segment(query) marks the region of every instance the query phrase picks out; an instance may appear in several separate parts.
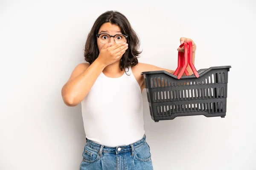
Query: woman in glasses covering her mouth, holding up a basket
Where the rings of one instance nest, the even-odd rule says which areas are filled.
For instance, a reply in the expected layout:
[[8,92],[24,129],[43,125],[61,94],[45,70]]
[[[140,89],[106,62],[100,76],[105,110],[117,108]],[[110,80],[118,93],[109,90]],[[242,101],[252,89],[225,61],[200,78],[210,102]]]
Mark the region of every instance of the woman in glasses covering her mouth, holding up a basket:
[[[180,43],[192,41],[180,38]],[[195,43],[193,58],[195,58]],[[80,170],[152,170],[145,139],[143,71],[165,70],[138,62],[140,41],[127,18],[117,11],[101,14],[88,34],[86,63],[74,68],[61,94],[64,103],[81,102],[87,143]],[[178,48],[183,51],[183,48]],[[190,74],[192,70],[188,68]]]

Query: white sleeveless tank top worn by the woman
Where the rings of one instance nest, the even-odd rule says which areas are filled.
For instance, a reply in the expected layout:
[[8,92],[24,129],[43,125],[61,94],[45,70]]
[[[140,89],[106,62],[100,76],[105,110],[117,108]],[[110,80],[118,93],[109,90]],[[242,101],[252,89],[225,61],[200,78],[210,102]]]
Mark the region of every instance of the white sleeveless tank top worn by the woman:
[[101,73],[81,102],[87,139],[105,146],[128,145],[143,138],[143,98],[131,67],[119,78]]

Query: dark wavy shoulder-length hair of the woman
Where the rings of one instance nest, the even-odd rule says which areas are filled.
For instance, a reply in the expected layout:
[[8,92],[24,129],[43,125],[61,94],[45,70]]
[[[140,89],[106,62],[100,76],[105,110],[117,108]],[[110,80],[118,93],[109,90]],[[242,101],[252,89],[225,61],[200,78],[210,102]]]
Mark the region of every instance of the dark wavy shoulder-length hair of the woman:
[[84,59],[85,61],[92,64],[95,59],[99,56],[99,48],[97,45],[97,37],[96,34],[99,32],[99,28],[104,23],[111,23],[113,25],[119,26],[122,34],[128,35],[127,43],[128,49],[123,54],[120,60],[120,69],[121,71],[124,68],[128,68],[128,66],[133,66],[138,64],[138,55],[141,54],[142,51],[138,51],[140,47],[140,40],[131,27],[128,19],[118,11],[106,11],[101,14],[93,24],[91,28],[87,40],[84,47]]

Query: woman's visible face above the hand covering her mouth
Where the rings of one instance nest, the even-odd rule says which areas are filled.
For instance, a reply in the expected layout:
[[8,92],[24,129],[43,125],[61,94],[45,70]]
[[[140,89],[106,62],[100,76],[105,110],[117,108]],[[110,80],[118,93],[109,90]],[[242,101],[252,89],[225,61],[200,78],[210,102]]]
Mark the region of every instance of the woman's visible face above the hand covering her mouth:
[[[122,34],[120,27],[113,25],[111,23],[102,24],[102,26],[99,28],[98,34],[101,34],[101,33],[107,33],[110,35]],[[116,42],[114,41],[114,37],[111,37],[109,42],[112,42],[112,45],[116,44]],[[102,42],[99,41],[99,38],[97,38],[97,45],[98,45],[99,51],[104,46],[104,44],[102,44]]]

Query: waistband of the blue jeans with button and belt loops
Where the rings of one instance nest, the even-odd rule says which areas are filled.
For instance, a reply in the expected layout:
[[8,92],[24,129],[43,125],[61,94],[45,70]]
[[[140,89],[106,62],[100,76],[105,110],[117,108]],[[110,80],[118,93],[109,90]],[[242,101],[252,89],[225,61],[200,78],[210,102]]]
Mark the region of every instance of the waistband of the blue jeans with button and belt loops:
[[140,147],[146,142],[146,136],[144,134],[143,138],[140,139],[137,142],[134,142],[132,144],[128,145],[121,145],[121,146],[116,146],[116,147],[108,147],[104,146],[102,144],[97,144],[89,139],[87,139],[86,145],[89,146],[90,148],[99,151],[100,153],[102,152],[114,152],[114,153],[122,153],[122,152],[127,152],[127,151],[134,151],[137,147]]

